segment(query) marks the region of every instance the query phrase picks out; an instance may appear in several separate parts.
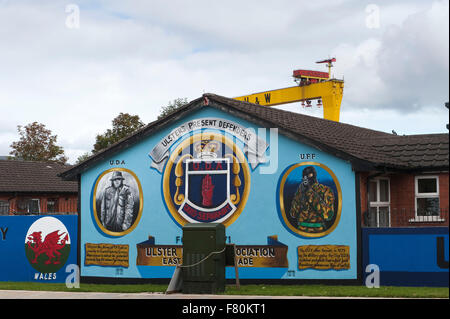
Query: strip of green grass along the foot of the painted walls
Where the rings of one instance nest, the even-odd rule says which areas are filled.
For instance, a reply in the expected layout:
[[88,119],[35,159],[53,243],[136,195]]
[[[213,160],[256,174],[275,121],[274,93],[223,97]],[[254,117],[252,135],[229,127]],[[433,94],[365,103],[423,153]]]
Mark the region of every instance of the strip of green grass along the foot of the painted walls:
[[[117,293],[164,293],[167,285],[99,285],[81,284],[80,288],[69,289],[65,284],[0,282],[2,290],[38,290],[70,292],[117,292]],[[449,298],[448,288],[436,287],[380,287],[328,286],[328,285],[241,285],[240,289],[228,285],[225,295],[259,296],[334,296],[334,297],[387,297],[387,298]]]

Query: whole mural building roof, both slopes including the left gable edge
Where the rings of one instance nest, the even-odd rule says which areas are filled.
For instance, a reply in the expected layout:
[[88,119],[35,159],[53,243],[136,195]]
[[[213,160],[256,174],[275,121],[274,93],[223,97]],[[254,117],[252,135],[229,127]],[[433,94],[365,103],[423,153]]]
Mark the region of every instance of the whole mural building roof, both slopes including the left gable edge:
[[77,174],[106,156],[137,143],[187,113],[205,106],[220,109],[260,127],[276,127],[281,134],[348,160],[359,170],[448,170],[448,134],[394,135],[206,93],[91,156],[62,173],[61,177],[75,179]]

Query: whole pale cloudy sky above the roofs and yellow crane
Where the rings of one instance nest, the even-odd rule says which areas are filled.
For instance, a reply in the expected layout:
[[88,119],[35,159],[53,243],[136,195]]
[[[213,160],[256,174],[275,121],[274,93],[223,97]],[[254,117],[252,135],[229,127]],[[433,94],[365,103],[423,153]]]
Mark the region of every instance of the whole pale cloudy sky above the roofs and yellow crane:
[[328,57],[341,122],[448,132],[448,39],[448,0],[0,0],[0,155],[37,121],[73,163],[120,112],[292,86]]

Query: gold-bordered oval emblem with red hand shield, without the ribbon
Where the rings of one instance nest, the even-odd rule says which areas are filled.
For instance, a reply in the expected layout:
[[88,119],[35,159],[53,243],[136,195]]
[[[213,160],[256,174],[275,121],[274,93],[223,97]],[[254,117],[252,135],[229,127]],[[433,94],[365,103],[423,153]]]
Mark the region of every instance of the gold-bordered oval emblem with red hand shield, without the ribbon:
[[172,153],[164,172],[164,199],[181,225],[229,225],[245,205],[249,182],[245,157],[231,140],[216,133],[197,134]]

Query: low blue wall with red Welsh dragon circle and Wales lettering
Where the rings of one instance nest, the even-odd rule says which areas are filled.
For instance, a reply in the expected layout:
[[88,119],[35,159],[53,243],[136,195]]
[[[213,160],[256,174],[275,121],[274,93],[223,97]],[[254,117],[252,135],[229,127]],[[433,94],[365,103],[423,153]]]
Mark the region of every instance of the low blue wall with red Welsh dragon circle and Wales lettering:
[[64,283],[77,264],[77,216],[0,216],[0,281]]

